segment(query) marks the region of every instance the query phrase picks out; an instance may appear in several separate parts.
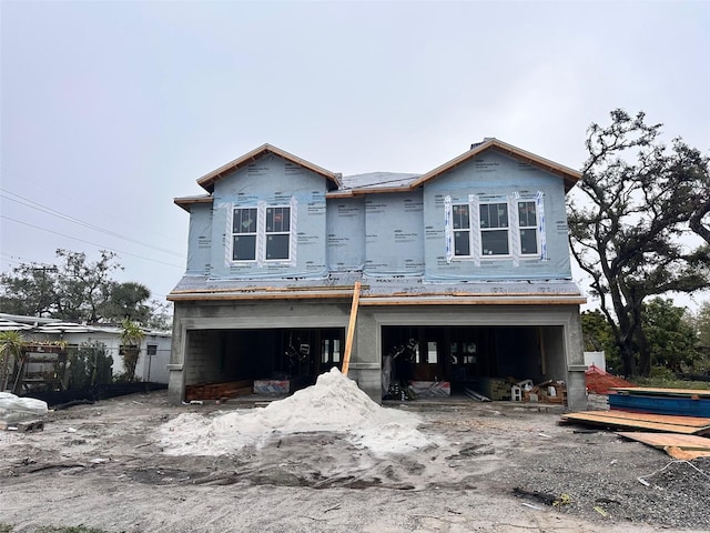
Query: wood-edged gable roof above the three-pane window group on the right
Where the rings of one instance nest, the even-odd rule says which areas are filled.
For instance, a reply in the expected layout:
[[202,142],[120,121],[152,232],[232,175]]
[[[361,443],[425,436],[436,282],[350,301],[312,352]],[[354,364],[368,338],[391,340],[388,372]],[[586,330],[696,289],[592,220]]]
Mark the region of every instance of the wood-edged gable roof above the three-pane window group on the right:
[[433,180],[438,175],[442,175],[443,173],[448,172],[449,170],[453,170],[456,167],[469,161],[470,159],[477,157],[486,150],[495,150],[503,153],[504,155],[508,155],[521,162],[537,167],[546,172],[550,172],[552,174],[561,177],[565,180],[565,192],[569,192],[575,183],[577,183],[581,179],[581,172],[577,170],[556,163],[554,161],[550,161],[549,159],[540,158],[539,155],[514,147],[513,144],[508,144],[507,142],[499,141],[498,139],[486,138],[484,139],[484,142],[473,144],[470,147],[470,150],[468,150],[467,152],[462,153],[457,158],[452,159],[450,161],[437,167],[434,170],[430,170],[426,174],[423,174],[418,179],[412,181],[412,183],[409,183],[409,188],[415,189],[426,183],[427,181]]

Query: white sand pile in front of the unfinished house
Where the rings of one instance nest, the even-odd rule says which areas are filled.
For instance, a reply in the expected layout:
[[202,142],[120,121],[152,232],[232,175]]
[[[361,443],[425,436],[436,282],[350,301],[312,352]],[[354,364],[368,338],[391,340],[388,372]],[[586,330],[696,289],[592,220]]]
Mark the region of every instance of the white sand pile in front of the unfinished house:
[[406,453],[434,444],[417,430],[420,419],[373,402],[337,369],[316,384],[263,409],[184,413],[159,429],[163,452],[171,455],[221,455],[245,445],[263,445],[280,435],[336,432],[375,454]]

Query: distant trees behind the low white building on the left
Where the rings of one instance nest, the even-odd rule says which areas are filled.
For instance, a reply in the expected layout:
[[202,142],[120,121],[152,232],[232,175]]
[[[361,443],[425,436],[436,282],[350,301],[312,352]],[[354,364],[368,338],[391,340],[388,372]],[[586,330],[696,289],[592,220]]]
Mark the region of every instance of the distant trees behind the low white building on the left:
[[146,286],[111,278],[122,270],[113,252],[101,251],[94,262],[67,250],[57,250],[57,264],[21,264],[0,274],[0,310],[89,324],[120,323],[129,316],[151,328],[169,328],[166,306],[150,302]]

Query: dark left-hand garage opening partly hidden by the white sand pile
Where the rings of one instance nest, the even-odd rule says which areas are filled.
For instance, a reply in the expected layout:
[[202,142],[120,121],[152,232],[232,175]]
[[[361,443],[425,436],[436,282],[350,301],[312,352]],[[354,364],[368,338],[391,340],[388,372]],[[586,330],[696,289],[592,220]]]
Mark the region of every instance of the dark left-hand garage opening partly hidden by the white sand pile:
[[344,339],[344,328],[189,330],[185,399],[251,393],[255,382],[273,382],[266,392],[295,392],[342,366]]

